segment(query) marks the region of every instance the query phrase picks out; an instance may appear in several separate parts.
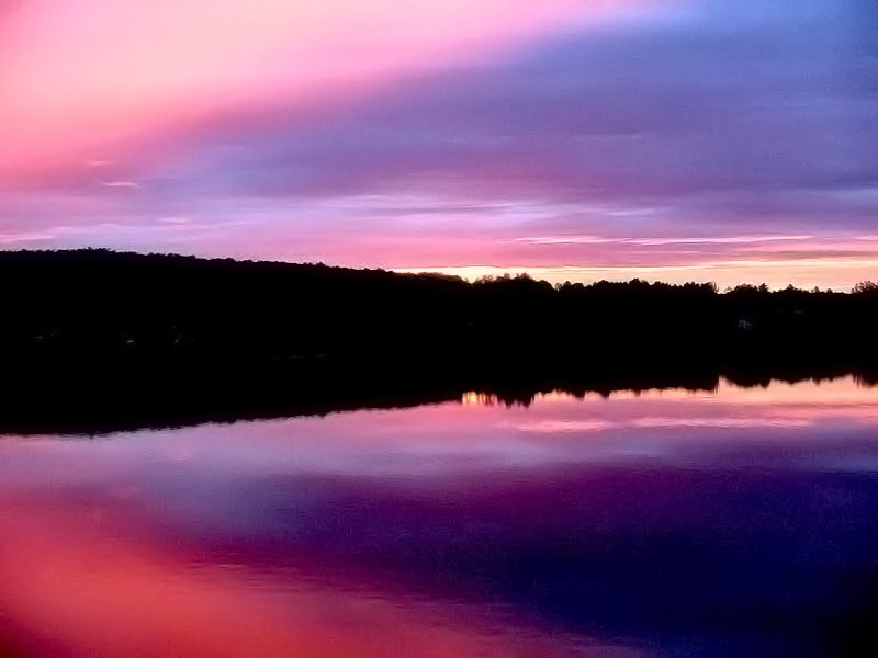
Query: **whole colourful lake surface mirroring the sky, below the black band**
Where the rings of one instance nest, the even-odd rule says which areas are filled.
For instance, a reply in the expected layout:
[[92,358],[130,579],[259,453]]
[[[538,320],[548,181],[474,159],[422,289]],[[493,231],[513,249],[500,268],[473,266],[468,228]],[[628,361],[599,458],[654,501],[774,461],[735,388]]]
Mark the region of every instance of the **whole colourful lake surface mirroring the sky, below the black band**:
[[0,438],[0,655],[878,655],[878,388]]

